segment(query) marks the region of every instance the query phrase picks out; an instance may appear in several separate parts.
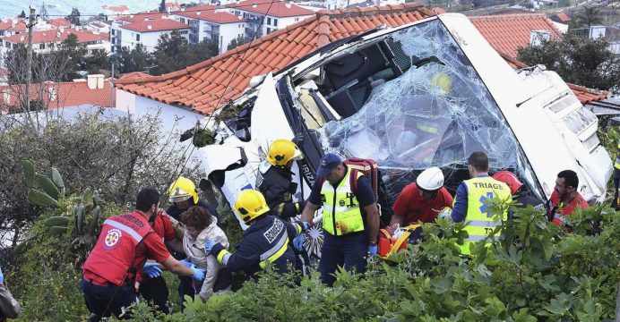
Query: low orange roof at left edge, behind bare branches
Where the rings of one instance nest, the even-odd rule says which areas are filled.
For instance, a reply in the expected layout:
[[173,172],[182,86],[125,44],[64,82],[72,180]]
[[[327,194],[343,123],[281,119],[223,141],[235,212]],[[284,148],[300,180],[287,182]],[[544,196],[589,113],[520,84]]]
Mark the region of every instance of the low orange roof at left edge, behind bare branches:
[[[23,96],[24,85],[0,86],[0,106],[13,106],[18,97]],[[4,94],[6,93],[6,94]],[[30,85],[30,95],[42,99],[48,108],[93,105],[100,107],[114,106],[115,97],[111,97],[109,80],[103,80],[103,89],[90,89],[87,81],[47,82]],[[56,93],[52,99],[52,93]],[[116,93],[113,93],[116,95]],[[8,101],[5,99],[8,98]]]

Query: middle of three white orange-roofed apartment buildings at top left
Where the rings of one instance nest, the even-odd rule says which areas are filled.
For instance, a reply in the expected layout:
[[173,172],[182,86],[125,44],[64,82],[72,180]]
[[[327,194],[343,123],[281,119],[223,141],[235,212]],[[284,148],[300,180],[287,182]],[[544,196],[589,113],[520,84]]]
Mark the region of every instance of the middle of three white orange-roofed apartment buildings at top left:
[[186,10],[173,13],[177,21],[190,26],[189,41],[197,44],[211,40],[218,44],[220,54],[227,51],[230,42],[245,37],[245,19],[221,10]]

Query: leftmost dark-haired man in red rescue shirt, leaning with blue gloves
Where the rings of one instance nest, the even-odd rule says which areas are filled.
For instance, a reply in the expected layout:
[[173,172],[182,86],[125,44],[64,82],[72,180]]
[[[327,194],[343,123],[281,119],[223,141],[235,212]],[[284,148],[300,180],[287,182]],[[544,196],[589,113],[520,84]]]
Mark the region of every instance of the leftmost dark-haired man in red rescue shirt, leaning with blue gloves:
[[89,321],[99,321],[114,313],[130,318],[129,306],[137,301],[133,281],[147,258],[169,271],[202,280],[204,272],[188,268],[173,258],[149,218],[158,211],[159,192],[145,188],[138,192],[135,210],[112,216],[101,227],[99,240],[82,266],[80,288],[90,311]]

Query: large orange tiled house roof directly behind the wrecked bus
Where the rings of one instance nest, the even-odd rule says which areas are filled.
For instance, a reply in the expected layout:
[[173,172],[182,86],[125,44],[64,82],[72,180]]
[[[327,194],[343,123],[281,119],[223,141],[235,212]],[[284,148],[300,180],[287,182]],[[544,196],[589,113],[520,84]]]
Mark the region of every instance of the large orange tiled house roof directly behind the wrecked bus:
[[[371,30],[419,21],[433,13],[421,4],[319,11],[312,17],[184,70],[116,80],[118,89],[202,114],[235,99],[250,79],[283,67],[333,41]],[[237,71],[237,72],[234,72]]]

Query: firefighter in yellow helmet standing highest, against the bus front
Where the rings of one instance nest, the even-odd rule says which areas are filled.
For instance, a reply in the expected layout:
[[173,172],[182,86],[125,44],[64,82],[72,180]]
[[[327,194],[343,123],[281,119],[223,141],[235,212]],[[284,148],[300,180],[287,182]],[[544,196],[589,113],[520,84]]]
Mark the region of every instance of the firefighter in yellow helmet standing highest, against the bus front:
[[301,203],[293,202],[297,183],[293,182],[294,174],[290,171],[293,162],[301,157],[293,141],[274,140],[266,157],[268,163],[259,166],[256,189],[263,193],[271,215],[290,218],[301,214]]

